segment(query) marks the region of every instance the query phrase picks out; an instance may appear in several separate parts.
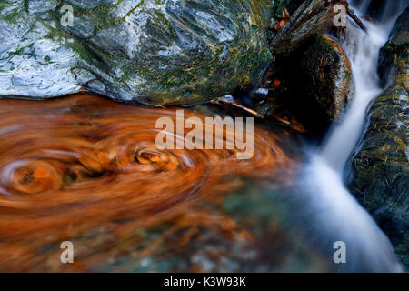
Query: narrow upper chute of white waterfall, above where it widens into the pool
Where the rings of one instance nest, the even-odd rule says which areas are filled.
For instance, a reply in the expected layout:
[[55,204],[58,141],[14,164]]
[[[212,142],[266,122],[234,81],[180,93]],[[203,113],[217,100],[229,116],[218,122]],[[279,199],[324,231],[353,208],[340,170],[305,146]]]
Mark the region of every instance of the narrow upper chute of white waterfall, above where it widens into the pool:
[[[371,1],[365,0],[361,6],[367,7]],[[404,11],[407,1],[388,1],[384,10],[394,14],[382,16],[380,23],[365,22],[365,34],[356,25],[350,24],[347,30],[344,49],[350,58],[354,75],[354,99],[345,112],[342,122],[335,125],[324,141],[320,156],[328,166],[338,173],[342,172],[364,127],[367,106],[376,95],[382,92],[377,75],[378,55],[386,43],[389,32],[399,13]]]

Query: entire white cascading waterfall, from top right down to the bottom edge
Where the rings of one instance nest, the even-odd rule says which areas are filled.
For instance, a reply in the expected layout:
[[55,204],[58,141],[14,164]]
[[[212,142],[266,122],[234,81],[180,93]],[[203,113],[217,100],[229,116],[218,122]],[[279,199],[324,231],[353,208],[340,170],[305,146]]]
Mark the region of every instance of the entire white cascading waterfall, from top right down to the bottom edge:
[[[364,1],[355,14],[362,15],[360,12],[369,2]],[[341,122],[329,132],[323,146],[314,150],[301,179],[300,191],[309,193],[304,203],[316,211],[314,217],[308,218],[309,222],[314,220],[312,223],[318,225],[315,227],[319,229],[315,231],[320,234],[321,244],[327,250],[327,245],[334,241],[345,242],[347,264],[344,269],[348,271],[402,270],[388,238],[344,186],[343,171],[362,134],[366,109],[382,91],[377,75],[379,50],[406,4],[400,0],[387,1],[384,9],[391,10],[388,5],[394,5],[396,13],[386,15],[384,21],[377,24],[364,22],[367,34],[349,23],[344,50],[350,58],[354,75],[354,100]]]

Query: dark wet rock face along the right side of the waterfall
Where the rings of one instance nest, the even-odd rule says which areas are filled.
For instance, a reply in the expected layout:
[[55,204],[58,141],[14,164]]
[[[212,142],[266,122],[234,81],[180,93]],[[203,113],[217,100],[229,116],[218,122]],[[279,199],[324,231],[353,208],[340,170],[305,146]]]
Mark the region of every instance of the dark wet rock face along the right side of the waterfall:
[[369,109],[369,125],[352,162],[350,189],[390,237],[409,267],[409,8],[382,48],[379,73],[388,85]]

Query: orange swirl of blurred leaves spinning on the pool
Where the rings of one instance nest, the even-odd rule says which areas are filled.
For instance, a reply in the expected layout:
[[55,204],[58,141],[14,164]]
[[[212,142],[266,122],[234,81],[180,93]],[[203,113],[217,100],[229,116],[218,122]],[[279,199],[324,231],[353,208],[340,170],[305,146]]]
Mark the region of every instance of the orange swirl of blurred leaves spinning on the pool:
[[[257,127],[249,160],[235,150],[158,150],[155,122],[175,120],[175,110],[93,95],[0,101],[0,270],[33,270],[46,246],[98,227],[114,240],[175,217],[173,228],[235,227],[231,218],[189,209],[200,199],[223,200],[238,186],[234,176],[276,178],[274,169],[292,164],[277,137]],[[185,109],[189,116],[205,120]],[[106,256],[88,256],[77,269]]]

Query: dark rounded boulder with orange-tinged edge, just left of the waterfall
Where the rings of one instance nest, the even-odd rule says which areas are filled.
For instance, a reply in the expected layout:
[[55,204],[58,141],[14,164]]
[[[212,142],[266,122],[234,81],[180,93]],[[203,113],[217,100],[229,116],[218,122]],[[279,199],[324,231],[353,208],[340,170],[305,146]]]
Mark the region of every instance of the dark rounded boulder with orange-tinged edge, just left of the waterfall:
[[[314,35],[290,55],[276,55],[268,97],[257,112],[286,110],[307,135],[319,137],[354,96],[354,78],[343,48],[329,35]],[[300,126],[301,125],[301,126]]]

